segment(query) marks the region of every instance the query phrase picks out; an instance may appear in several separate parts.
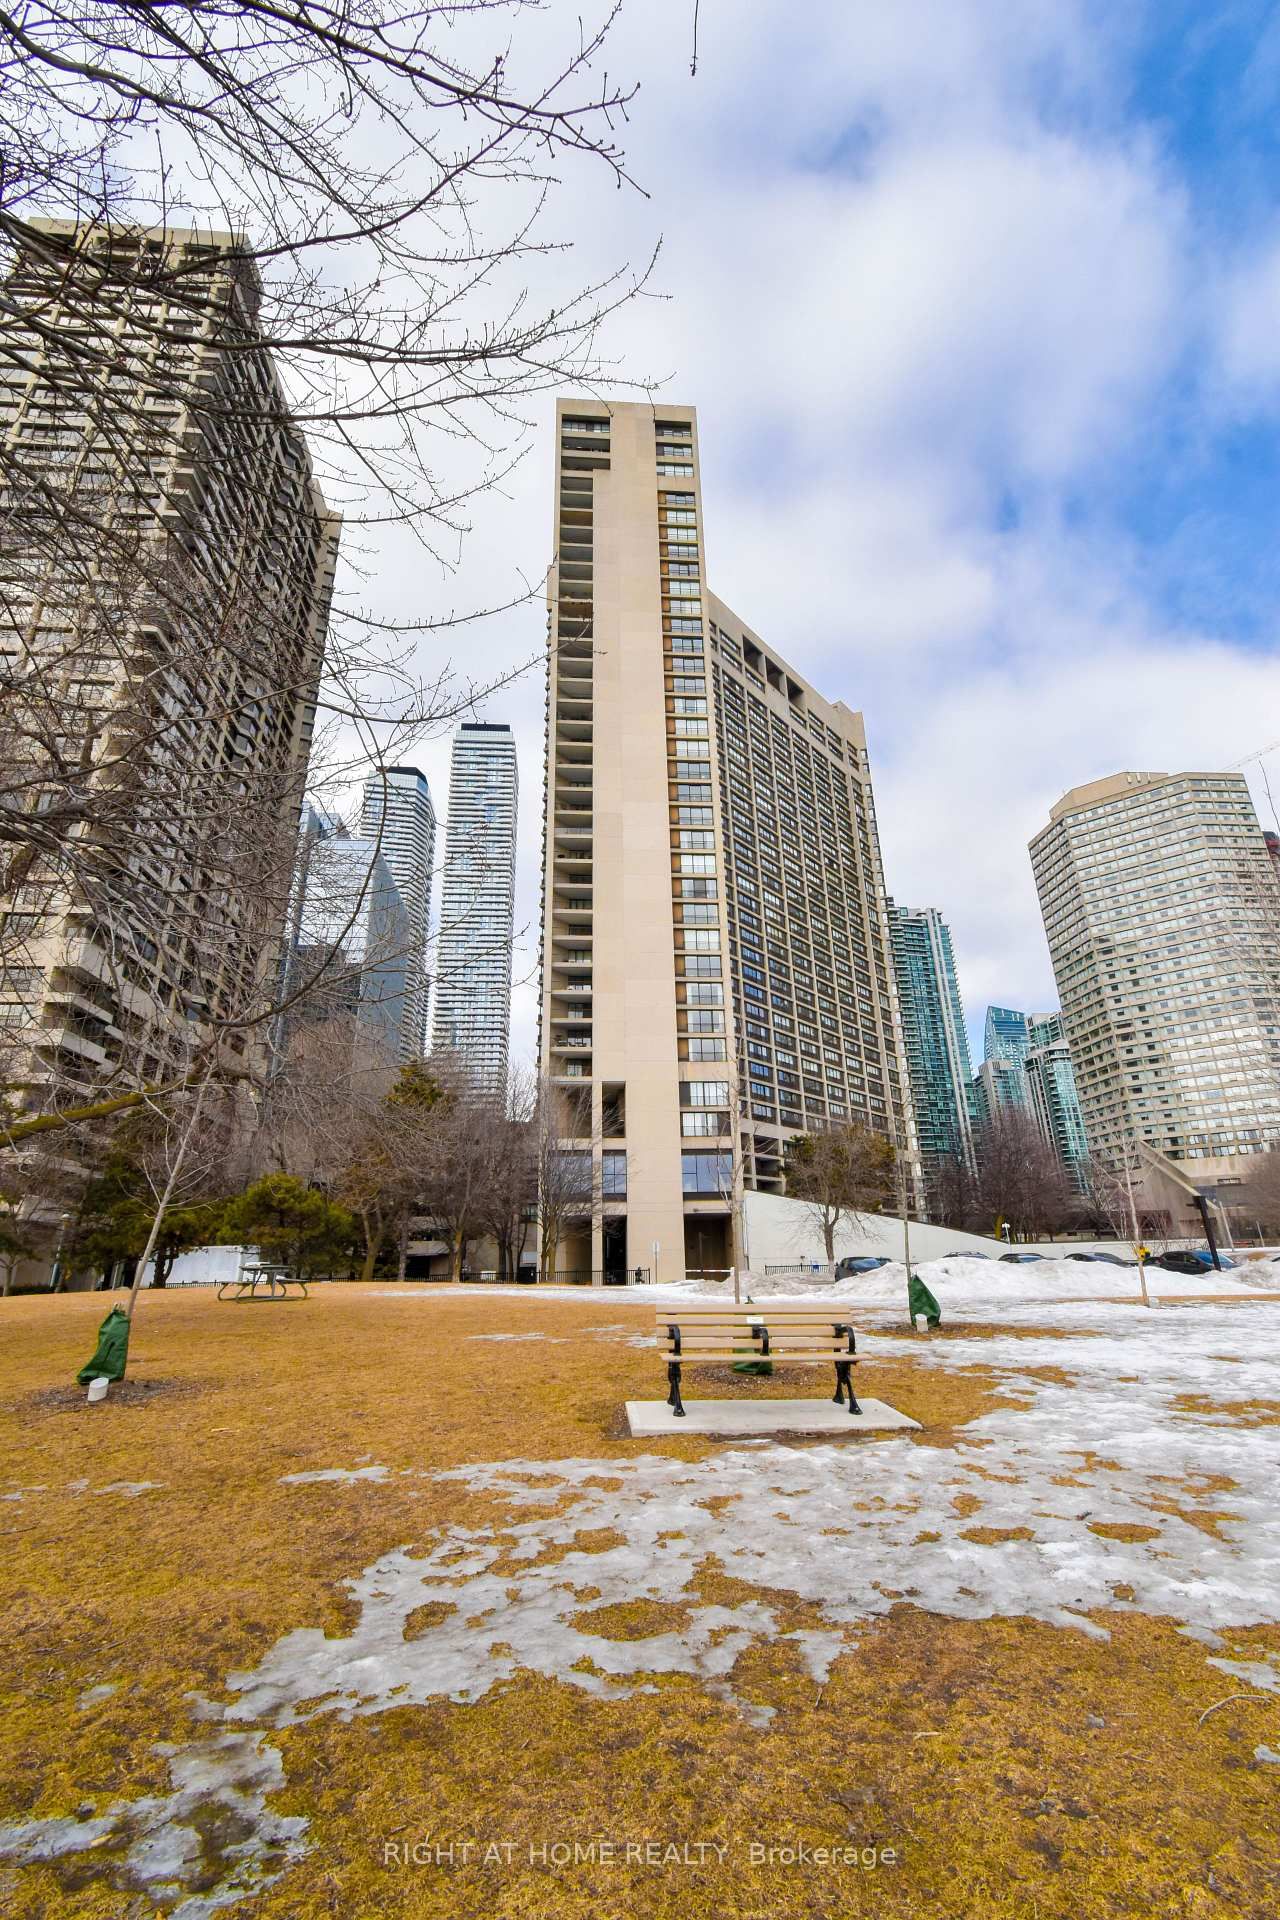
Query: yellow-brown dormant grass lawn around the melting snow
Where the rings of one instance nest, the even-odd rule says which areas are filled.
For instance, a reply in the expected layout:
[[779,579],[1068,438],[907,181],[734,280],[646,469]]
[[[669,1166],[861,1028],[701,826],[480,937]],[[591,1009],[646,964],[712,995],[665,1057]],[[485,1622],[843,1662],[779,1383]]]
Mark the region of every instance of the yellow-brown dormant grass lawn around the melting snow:
[[[622,1323],[649,1331],[652,1309],[631,1296],[422,1300],[351,1286],[320,1288],[307,1304],[230,1306],[205,1292],[152,1294],[140,1302],[130,1379],[167,1386],[132,1404],[50,1404],[48,1390],[71,1382],[92,1352],[104,1311],[104,1296],[12,1300],[0,1311],[0,1492],[27,1490],[0,1503],[4,1818],[165,1793],[167,1757],[155,1749],[201,1736],[192,1695],[225,1701],[226,1676],[257,1667],[294,1628],[347,1634],[344,1582],[391,1548],[422,1551],[438,1528],[509,1519],[503,1496],[434,1478],[434,1469],[641,1452],[700,1459],[710,1448],[624,1436],[622,1402],[660,1398],[662,1367],[652,1350],[591,1334]],[[499,1331],[553,1338],[468,1338]],[[913,1367],[910,1356],[869,1359],[860,1388],[925,1423],[923,1434],[892,1442],[904,1448],[946,1450],[1000,1400],[986,1369]],[[697,1394],[697,1379],[685,1390]],[[779,1373],[716,1379],[708,1390],[831,1388],[825,1373],[806,1386]],[[280,1484],[288,1473],[363,1461],[391,1473]],[[159,1484],[132,1498],[94,1492],[115,1482]],[[858,1551],[856,1526],[833,1551]],[[704,1569],[702,1599],[716,1582],[718,1571]],[[739,1588],[725,1603],[750,1597],[741,1582],[720,1584]],[[783,1628],[818,1619],[785,1592],[764,1597]],[[407,1630],[420,1624],[430,1622]],[[1207,1705],[1236,1692],[1205,1667],[1205,1649],[1173,1622],[1117,1613],[1107,1626],[1102,1642],[900,1603],[850,1632],[823,1686],[794,1644],[766,1640],[743,1655],[735,1680],[775,1709],[768,1728],[687,1674],[604,1701],[516,1670],[474,1705],[436,1697],[355,1718],[322,1713],[271,1734],[284,1764],[271,1805],[309,1820],[309,1851],[225,1910],[261,1920],[1270,1920],[1280,1912],[1280,1768],[1253,1761],[1257,1703],[1226,1705],[1197,1726]],[[679,1632],[679,1609],[637,1601],[601,1615],[595,1630],[618,1640]],[[115,1692],[84,1701],[106,1686]],[[603,1837],[620,1853],[626,1841],[725,1853],[708,1851],[702,1864],[557,1866],[537,1851]],[[215,1880],[226,1834],[205,1839]],[[386,1862],[388,1843],[422,1841],[497,1843],[510,1859]],[[892,1849],[894,1860],[762,1862],[752,1841]],[[121,1872],[109,1847],[0,1864],[0,1912],[134,1920],[173,1908],[113,1884]]]

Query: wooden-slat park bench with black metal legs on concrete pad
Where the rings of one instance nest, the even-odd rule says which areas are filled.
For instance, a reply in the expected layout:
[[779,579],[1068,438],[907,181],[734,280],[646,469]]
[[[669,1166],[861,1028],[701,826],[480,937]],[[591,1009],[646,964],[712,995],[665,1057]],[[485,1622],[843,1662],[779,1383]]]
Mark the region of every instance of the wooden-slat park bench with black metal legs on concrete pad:
[[858,1346],[854,1329],[839,1311],[816,1306],[679,1306],[658,1308],[658,1346],[666,1354],[666,1404],[683,1419],[679,1398],[681,1367],[697,1367],[714,1359],[770,1359],[773,1365],[814,1367],[835,1365],[837,1405],[862,1413],[854,1396],[854,1367]]

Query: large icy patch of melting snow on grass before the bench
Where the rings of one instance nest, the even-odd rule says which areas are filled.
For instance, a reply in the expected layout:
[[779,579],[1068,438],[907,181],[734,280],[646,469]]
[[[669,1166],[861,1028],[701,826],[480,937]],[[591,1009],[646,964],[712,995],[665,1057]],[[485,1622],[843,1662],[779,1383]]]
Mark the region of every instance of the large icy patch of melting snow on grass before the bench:
[[[217,1855],[221,1878],[177,1908],[180,1920],[203,1920],[269,1885],[305,1847],[305,1820],[265,1805],[284,1784],[265,1743],[273,1728],[476,1701],[522,1668],[601,1699],[687,1674],[766,1724],[771,1709],[735,1678],[739,1655],[789,1638],[821,1684],[850,1634],[902,1599],[954,1619],[1031,1617],[1102,1636],[1096,1617],[1107,1611],[1157,1615],[1234,1655],[1211,1665],[1242,1686],[1280,1693],[1280,1649],[1230,1644],[1232,1628],[1280,1619],[1280,1430],[1205,1421],[1176,1404],[1188,1394],[1280,1400],[1280,1317],[1117,1306],[1098,1332],[1080,1309],[1055,1306],[1036,1311],[1036,1325],[1082,1334],[1054,1340],[1006,1331],[1007,1306],[984,1309],[996,1329],[986,1338],[865,1342],[869,1388],[879,1354],[996,1375],[1015,1404],[961,1428],[952,1448],[867,1438],[700,1461],[510,1459],[424,1475],[491,1494],[493,1521],[441,1528],[424,1551],[382,1553],[347,1582],[357,1615],[347,1636],[299,1626],[255,1668],[230,1674],[228,1699],[198,1703],[217,1732],[171,1755],[167,1797],[94,1818],[13,1822],[0,1828],[0,1853],[33,1860],[127,1841],[127,1884],[169,1901],[198,1872],[211,1884],[192,1816],[213,1803],[232,1832]],[[1067,1380],[1029,1371],[1048,1365]],[[286,1482],[388,1473],[330,1467]],[[1142,1532],[1115,1538],[1126,1530]],[[704,1599],[708,1565],[748,1590],[794,1596],[823,1624],[785,1634],[764,1597]],[[604,1609],[633,1601],[666,1605],[672,1624],[610,1638]],[[434,1624],[416,1630],[411,1615],[428,1603]],[[1276,1761],[1274,1747],[1255,1753]]]

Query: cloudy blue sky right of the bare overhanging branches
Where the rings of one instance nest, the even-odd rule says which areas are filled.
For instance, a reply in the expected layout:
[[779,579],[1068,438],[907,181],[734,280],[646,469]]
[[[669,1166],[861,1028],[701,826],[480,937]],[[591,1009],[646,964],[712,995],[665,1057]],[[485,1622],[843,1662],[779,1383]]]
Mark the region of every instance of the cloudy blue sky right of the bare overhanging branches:
[[[512,31],[576,17],[553,0]],[[568,169],[551,227],[574,250],[533,267],[589,278],[660,242],[606,351],[699,409],[710,588],[865,714],[887,885],[950,922],[979,1060],[988,1002],[1057,1004],[1027,856],[1052,803],[1280,741],[1280,15],[700,0],[695,77],[691,33],[693,0],[624,6],[606,65],[639,81],[643,192]],[[382,607],[545,574],[553,413],[455,568],[374,557]],[[535,599],[468,628],[464,670],[535,657],[543,626]],[[520,756],[522,1062],[541,672],[476,716]],[[413,758],[443,816],[447,737]]]

